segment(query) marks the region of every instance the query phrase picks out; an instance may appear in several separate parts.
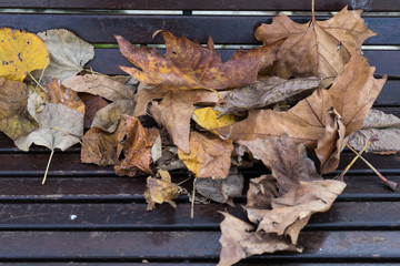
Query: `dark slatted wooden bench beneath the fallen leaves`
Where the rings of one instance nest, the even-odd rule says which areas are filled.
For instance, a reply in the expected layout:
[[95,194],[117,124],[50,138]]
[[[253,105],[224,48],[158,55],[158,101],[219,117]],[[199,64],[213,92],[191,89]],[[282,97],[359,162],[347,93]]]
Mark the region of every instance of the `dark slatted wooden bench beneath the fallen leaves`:
[[[186,35],[204,43],[211,35],[216,44],[253,45],[253,30],[271,16],[248,12],[196,14],[196,11],[310,11],[311,1],[291,0],[0,0],[0,27],[39,32],[53,28],[73,31],[94,44],[96,58],[89,66],[106,74],[121,74],[118,65],[130,65],[120,55],[114,34],[132,43],[158,44],[151,39],[159,29]],[[359,6],[358,2],[367,2]],[[364,8],[366,23],[378,32],[364,43],[363,54],[377,73],[389,80],[376,108],[400,116],[400,2],[320,0],[318,11],[339,11],[346,4]],[[20,10],[23,9],[23,10]],[[28,10],[27,10],[28,9]],[[128,12],[120,12],[128,10]],[[147,14],[136,10],[178,10],[174,14]],[[388,16],[377,12],[389,12]],[[222,14],[221,14],[222,13]],[[324,19],[329,16],[319,16]],[[310,16],[293,16],[304,22]],[[379,45],[379,47],[378,47]],[[234,47],[221,50],[223,58]],[[389,50],[388,50],[389,49]],[[187,196],[177,200],[173,209],[163,204],[146,211],[142,196],[144,177],[119,177],[112,167],[80,163],[80,147],[56,152],[44,186],[41,178],[50,151],[33,147],[23,153],[0,134],[0,265],[214,265],[220,253],[219,224],[229,213],[244,219],[241,206],[246,196],[236,200],[237,207],[211,203],[194,206],[190,219]],[[353,154],[344,151],[339,170]],[[379,171],[400,183],[400,155],[366,154]],[[264,173],[263,167],[247,170],[246,180]],[[186,173],[177,173],[177,182]],[[383,264],[400,260],[400,194],[391,192],[360,161],[349,171],[348,187],[332,208],[312,217],[300,235],[302,254],[278,253],[253,256],[240,265],[266,263],[309,264]],[[190,188],[190,187],[189,187]]]

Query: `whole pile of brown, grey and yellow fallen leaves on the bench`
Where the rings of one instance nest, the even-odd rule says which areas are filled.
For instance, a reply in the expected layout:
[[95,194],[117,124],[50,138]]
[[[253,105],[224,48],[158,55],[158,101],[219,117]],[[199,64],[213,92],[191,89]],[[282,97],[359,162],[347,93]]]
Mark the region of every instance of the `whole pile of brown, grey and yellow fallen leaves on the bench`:
[[[344,8],[327,21],[299,24],[284,14],[262,24],[263,45],[222,62],[206,47],[168,31],[167,51],[116,37],[134,68],[130,76],[83,69],[93,47],[67,30],[38,34],[0,29],[0,130],[28,151],[81,143],[81,161],[113,165],[118,175],[149,176],[148,209],[182,192],[169,171],[188,168],[201,195],[232,205],[242,195],[240,170],[262,162],[251,178],[249,222],[223,213],[220,265],[253,254],[297,250],[310,216],[330,208],[346,184],[323,180],[350,143],[399,151],[400,119],[371,110],[386,78],[361,55],[376,33]],[[367,117],[367,119],[366,119]],[[89,129],[83,135],[83,129]],[[50,161],[49,161],[50,162]]]

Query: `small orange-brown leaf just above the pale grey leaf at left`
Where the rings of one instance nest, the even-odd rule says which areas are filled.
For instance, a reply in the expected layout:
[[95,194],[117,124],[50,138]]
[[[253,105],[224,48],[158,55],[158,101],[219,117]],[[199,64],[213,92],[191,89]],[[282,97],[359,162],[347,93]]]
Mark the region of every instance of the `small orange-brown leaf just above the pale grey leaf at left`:
[[46,89],[48,91],[48,101],[50,103],[61,103],[84,115],[84,103],[79,99],[77,92],[60,85],[56,79],[46,82]]

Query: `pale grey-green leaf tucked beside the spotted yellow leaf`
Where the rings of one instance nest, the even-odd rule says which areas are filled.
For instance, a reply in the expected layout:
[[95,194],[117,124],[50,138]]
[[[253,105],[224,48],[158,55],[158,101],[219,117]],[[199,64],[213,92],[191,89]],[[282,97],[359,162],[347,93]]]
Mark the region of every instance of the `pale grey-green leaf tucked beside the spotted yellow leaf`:
[[[94,48],[90,43],[66,29],[42,31],[38,35],[50,54],[50,65],[44,70],[44,76],[62,81],[82,71],[83,65],[94,57]],[[38,70],[33,76],[39,79],[41,74],[42,71]]]

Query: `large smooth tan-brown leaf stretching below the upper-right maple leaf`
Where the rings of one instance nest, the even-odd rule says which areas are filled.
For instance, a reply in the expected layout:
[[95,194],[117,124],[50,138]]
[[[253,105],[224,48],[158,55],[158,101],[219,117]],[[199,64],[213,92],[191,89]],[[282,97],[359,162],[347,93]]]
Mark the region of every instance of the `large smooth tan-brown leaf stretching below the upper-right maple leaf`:
[[[246,120],[216,131],[233,141],[279,137],[287,132],[297,143],[314,147],[317,141],[326,134],[327,126],[330,126],[331,120],[327,119],[331,116],[327,113],[333,108],[341,116],[346,126],[344,135],[348,136],[362,126],[369,109],[386,82],[386,78],[374,79],[373,72],[374,68],[369,66],[367,59],[357,52],[329,90],[314,91],[288,112],[250,111]],[[321,161],[328,160],[328,154],[317,155]]]

